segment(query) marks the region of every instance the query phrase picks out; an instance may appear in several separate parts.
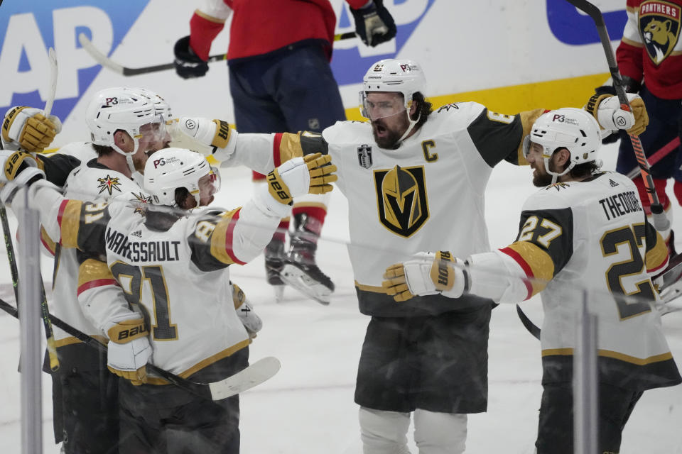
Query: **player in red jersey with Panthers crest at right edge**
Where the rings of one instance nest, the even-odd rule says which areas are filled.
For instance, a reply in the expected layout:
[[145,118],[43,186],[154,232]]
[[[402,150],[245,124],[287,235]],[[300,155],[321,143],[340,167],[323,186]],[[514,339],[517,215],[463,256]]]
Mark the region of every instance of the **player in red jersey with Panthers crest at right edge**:
[[[673,178],[673,191],[682,205],[682,0],[627,0],[627,23],[616,51],[618,69],[627,92],[642,96],[649,112],[649,126],[639,139],[648,157],[659,150],[669,153],[651,165],[656,194],[672,220],[667,180]],[[600,87],[599,94],[614,94],[612,87]],[[637,169],[632,144],[620,133],[616,170],[628,175]],[[649,196],[644,181],[634,179],[647,213]],[[662,232],[674,252],[674,236]]]

